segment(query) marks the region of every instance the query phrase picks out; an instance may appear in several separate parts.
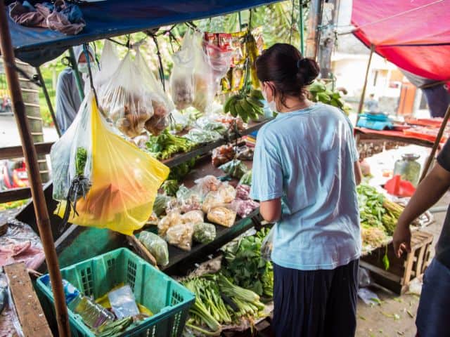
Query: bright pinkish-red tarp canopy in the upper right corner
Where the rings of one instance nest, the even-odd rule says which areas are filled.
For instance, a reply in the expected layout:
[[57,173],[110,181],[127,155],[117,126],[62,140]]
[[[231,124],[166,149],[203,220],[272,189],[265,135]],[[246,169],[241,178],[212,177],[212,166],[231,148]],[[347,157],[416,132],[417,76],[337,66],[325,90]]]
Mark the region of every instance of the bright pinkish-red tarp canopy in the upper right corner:
[[394,65],[450,81],[450,0],[353,0],[352,25]]

